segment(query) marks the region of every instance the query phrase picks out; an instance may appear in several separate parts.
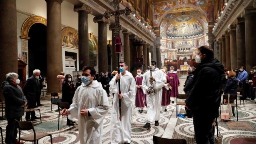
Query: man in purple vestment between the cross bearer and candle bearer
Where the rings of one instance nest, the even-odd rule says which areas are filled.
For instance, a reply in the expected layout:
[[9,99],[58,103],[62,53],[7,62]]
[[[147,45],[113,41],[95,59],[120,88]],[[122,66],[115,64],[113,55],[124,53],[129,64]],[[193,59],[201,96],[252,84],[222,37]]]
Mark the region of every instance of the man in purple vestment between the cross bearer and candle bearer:
[[139,112],[142,113],[143,108],[147,106],[147,102],[146,102],[146,94],[144,94],[142,90],[143,76],[141,74],[141,69],[137,70],[137,75],[134,79],[136,81],[136,87],[137,87],[137,93],[135,97],[135,106],[136,108],[138,107]]

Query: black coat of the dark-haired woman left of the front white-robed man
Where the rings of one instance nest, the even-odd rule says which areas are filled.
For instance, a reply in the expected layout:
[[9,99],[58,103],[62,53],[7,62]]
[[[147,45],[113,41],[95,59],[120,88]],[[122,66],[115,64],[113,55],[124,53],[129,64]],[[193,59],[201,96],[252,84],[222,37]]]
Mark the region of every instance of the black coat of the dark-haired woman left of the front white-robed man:
[[68,102],[69,105],[72,104],[72,100],[75,94],[74,84],[68,84],[68,82],[64,82],[62,84],[62,102]]

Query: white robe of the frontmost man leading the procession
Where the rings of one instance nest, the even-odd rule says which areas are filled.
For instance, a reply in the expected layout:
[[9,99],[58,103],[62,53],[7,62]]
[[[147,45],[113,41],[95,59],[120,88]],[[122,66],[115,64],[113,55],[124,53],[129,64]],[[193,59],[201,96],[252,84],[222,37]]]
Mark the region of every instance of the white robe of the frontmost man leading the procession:
[[[88,109],[91,116],[83,117],[80,110]],[[103,120],[108,112],[109,103],[101,83],[94,80],[86,86],[82,83],[75,92],[73,103],[68,109],[68,118],[78,118],[80,144],[102,144]]]

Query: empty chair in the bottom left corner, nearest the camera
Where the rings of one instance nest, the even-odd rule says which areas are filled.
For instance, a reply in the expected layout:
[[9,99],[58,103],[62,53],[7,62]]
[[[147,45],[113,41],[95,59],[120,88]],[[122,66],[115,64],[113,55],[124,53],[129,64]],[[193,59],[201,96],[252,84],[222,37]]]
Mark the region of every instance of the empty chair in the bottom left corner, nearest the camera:
[[[42,132],[35,132],[34,126],[32,124],[32,122],[21,122],[16,120],[16,122],[18,123],[18,128],[19,128],[19,140],[18,140],[18,144],[20,143],[20,140],[25,140],[25,141],[29,141],[29,142],[34,142],[34,144],[38,143],[38,140],[41,138],[44,138],[46,136],[50,136],[51,138],[51,144],[52,144],[52,134],[47,134],[47,133],[42,133]],[[20,131],[21,130],[33,130],[32,133],[30,134],[26,134],[25,136],[20,137]]]

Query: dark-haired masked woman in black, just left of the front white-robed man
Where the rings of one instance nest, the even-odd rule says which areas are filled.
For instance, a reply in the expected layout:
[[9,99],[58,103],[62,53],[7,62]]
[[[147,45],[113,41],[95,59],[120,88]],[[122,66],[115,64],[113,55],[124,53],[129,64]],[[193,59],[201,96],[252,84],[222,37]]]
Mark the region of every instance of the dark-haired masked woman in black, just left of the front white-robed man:
[[[75,86],[73,84],[72,76],[66,74],[64,83],[62,84],[62,102],[72,104],[72,99],[75,94]],[[74,126],[74,123],[67,118],[67,125]]]

